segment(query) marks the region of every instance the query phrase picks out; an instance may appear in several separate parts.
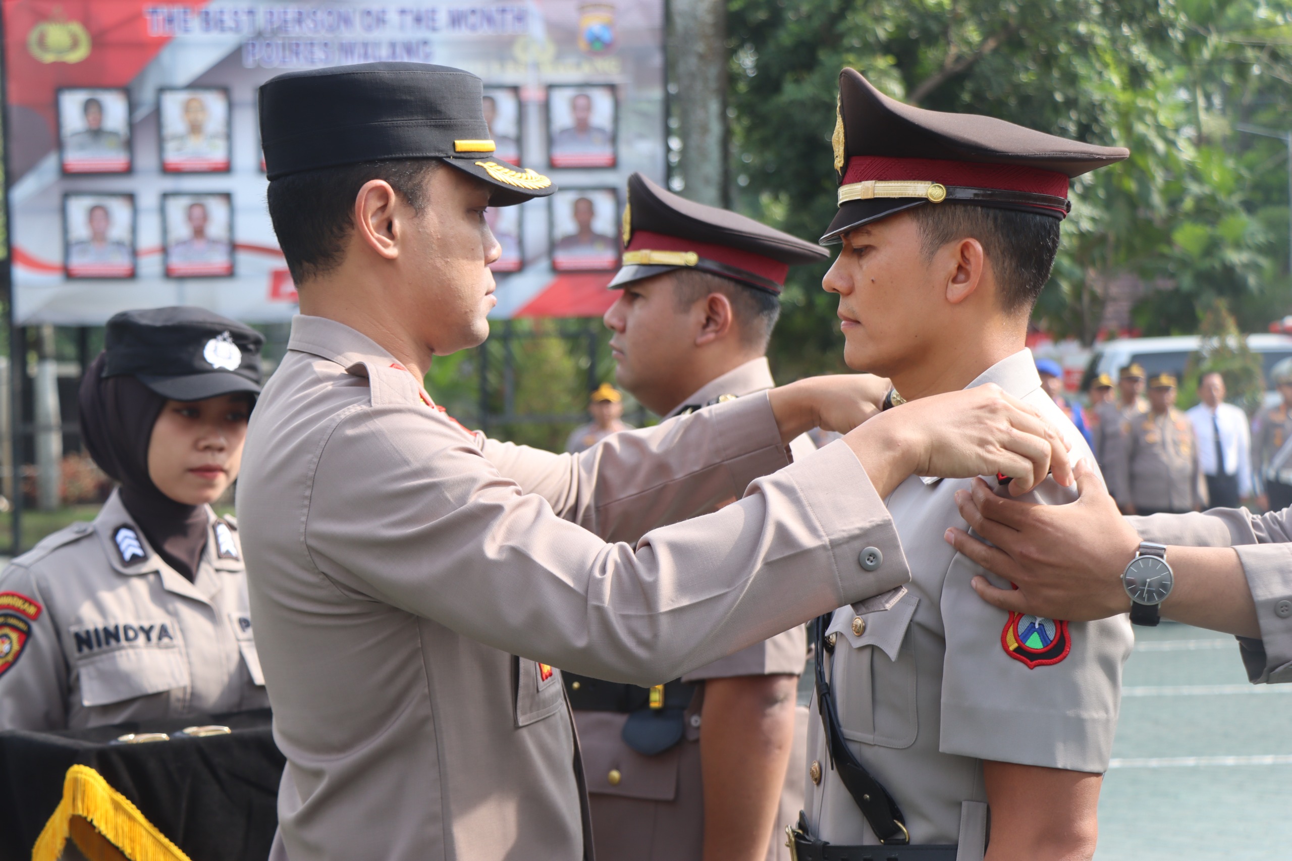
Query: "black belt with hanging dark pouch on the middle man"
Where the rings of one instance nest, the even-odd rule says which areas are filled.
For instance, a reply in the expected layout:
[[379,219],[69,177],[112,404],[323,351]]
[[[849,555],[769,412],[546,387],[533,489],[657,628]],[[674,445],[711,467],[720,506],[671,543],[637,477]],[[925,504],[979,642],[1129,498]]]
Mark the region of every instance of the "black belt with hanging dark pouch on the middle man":
[[674,679],[641,688],[572,672],[562,672],[561,677],[570,694],[571,708],[628,715],[620,736],[625,745],[643,756],[663,754],[686,736],[686,710],[695,698],[696,685]]

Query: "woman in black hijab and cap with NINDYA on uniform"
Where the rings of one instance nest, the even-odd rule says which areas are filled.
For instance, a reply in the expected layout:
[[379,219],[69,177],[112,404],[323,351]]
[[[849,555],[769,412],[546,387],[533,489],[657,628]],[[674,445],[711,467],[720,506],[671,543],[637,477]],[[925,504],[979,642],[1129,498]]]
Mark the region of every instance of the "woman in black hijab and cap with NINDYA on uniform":
[[253,330],[123,312],[81,380],[85,447],[118,482],[0,573],[0,729],[80,729],[269,705],[231,517],[260,393]]

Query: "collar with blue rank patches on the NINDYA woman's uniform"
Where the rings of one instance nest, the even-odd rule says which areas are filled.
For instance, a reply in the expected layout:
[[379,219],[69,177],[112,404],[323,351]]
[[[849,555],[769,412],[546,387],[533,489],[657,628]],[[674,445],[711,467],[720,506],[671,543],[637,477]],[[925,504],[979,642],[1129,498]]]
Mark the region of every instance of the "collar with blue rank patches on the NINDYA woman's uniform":
[[[198,571],[191,583],[186,577],[167,565],[165,560],[152,549],[149,539],[143,535],[143,530],[140,529],[140,525],[130,517],[130,512],[121,503],[118,490],[112,491],[112,495],[107,498],[107,502],[98,511],[98,516],[94,517],[93,529],[98,534],[103,556],[115,571],[132,577],[156,573],[160,575],[162,586],[165,591],[209,602],[211,597],[220,591],[222,578],[213,577],[208,569],[242,571],[243,562],[240,558],[242,548],[236,544],[235,530],[216,517],[216,512],[212,511],[211,505],[205,505],[204,508],[207,511],[207,546],[202,551],[202,558],[198,561]],[[218,549],[220,542],[216,535],[217,524],[230,530],[234,546],[238,547],[238,558],[221,557]]]

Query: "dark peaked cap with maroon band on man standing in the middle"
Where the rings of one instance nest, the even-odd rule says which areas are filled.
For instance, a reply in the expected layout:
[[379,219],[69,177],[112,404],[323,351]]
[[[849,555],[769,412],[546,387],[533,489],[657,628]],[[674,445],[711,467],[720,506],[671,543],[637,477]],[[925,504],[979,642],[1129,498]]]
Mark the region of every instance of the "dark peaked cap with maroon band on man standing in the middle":
[[641,173],[628,177],[623,239],[624,265],[611,287],[690,268],[779,293],[789,266],[829,256],[753,218],[680,198]]

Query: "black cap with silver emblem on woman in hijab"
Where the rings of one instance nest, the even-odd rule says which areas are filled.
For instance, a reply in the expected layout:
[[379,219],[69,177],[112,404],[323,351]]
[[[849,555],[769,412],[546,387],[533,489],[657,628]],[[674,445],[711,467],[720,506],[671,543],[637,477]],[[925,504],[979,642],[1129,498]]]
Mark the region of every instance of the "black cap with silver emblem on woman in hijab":
[[260,393],[253,328],[203,308],[121,312],[107,321],[103,376],[130,375],[172,401]]

